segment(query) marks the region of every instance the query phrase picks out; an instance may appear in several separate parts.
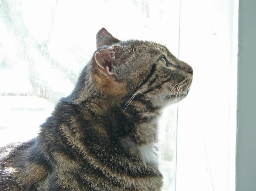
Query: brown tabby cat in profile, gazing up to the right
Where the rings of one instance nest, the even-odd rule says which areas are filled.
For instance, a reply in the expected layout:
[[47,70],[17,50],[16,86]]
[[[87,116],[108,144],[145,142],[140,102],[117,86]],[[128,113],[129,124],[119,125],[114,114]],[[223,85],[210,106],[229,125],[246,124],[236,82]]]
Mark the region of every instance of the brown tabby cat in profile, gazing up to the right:
[[193,69],[161,44],[105,28],[96,47],[38,136],[1,148],[1,191],[161,190],[157,119],[186,97]]

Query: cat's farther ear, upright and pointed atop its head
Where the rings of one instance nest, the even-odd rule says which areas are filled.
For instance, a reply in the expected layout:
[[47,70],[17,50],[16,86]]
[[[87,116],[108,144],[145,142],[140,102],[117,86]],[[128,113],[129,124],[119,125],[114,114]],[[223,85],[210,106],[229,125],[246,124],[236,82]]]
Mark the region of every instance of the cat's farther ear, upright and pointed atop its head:
[[110,46],[113,43],[120,42],[120,40],[116,39],[112,36],[105,28],[99,30],[96,35],[96,47],[99,49],[100,47],[106,45]]

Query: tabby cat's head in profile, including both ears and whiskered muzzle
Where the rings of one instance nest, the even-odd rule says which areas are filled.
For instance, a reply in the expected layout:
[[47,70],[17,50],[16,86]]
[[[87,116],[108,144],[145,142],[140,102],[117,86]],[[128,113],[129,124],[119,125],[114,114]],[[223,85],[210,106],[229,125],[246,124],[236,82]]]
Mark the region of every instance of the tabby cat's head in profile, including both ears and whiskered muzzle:
[[193,69],[165,46],[148,41],[120,41],[105,28],[97,33],[96,41],[98,50],[90,68],[102,97],[124,102],[140,97],[150,100],[154,107],[186,97]]

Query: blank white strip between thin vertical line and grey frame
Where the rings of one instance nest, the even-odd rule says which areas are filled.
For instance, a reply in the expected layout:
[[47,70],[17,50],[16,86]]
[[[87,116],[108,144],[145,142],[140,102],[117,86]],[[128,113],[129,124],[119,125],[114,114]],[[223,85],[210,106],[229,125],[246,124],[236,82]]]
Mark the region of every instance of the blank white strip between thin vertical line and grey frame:
[[194,74],[178,108],[177,191],[235,190],[236,3],[181,1],[180,59]]

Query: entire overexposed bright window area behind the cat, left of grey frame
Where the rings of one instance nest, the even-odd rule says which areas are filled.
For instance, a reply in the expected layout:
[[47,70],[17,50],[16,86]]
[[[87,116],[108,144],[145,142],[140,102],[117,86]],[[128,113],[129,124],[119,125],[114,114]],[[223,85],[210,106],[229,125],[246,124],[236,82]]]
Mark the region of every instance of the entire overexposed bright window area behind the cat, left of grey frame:
[[194,69],[178,112],[159,120],[163,190],[234,190],[237,14],[236,0],[0,0],[0,146],[36,136],[105,27],[162,43]]

